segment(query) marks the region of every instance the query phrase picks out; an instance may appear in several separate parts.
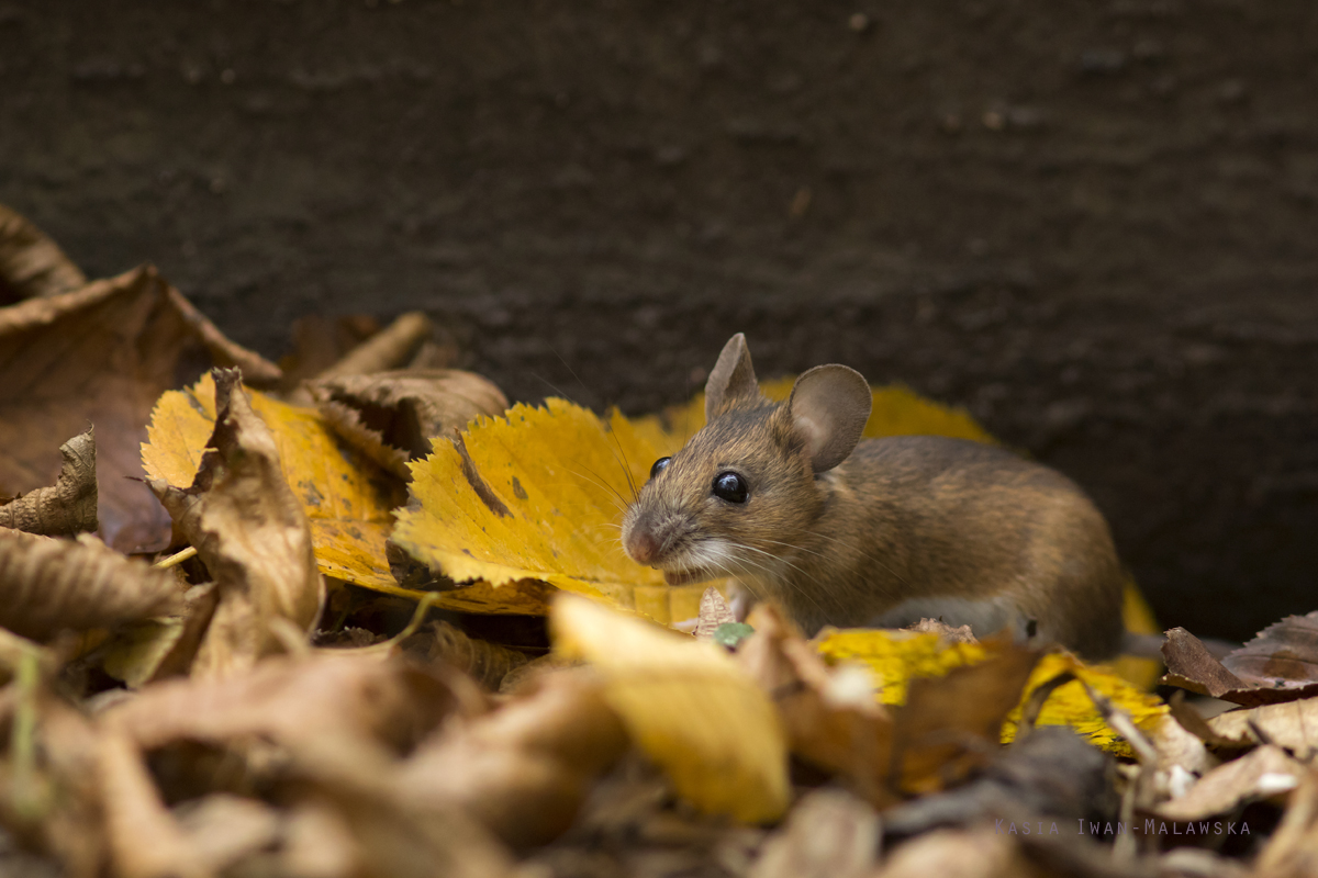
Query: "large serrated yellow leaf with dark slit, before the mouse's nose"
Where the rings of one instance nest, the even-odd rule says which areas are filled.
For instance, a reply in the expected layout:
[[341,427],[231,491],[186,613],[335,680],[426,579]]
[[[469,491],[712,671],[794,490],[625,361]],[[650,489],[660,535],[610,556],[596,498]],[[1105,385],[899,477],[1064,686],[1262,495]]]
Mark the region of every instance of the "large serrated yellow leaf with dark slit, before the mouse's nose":
[[515,405],[411,465],[419,508],[398,512],[393,538],[459,582],[539,581],[662,623],[691,619],[704,587],[668,587],[618,538],[633,486],[658,457],[654,434],[621,415],[606,426],[559,399]]

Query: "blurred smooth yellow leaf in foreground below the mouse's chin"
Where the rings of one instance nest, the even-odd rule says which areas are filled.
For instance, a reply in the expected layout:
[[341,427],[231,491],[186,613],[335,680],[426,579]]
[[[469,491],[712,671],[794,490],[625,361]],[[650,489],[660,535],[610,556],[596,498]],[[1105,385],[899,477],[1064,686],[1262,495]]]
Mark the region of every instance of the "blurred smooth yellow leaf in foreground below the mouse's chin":
[[701,811],[745,823],[787,810],[787,740],[772,702],[728,653],[561,595],[555,649],[594,665],[633,740]]

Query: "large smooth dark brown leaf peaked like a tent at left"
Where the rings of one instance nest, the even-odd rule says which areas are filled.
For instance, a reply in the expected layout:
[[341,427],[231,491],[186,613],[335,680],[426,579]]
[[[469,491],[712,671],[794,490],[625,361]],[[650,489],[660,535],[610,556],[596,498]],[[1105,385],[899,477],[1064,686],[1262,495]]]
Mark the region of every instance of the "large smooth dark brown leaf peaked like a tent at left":
[[253,380],[278,367],[225,340],[144,266],[74,292],[0,308],[0,494],[53,483],[62,458],[50,438],[98,428],[100,528],[125,552],[169,541],[169,516],[138,482],[152,405],[196,355],[239,363]]

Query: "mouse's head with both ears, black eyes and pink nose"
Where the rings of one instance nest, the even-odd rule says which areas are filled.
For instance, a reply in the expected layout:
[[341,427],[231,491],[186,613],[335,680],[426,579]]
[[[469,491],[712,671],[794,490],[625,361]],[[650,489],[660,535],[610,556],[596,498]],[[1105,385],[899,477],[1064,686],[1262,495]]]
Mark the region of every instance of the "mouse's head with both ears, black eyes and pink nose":
[[705,384],[705,426],[655,461],[627,509],[622,545],[670,584],[718,575],[772,581],[818,517],[817,477],[841,463],[870,417],[870,386],[854,369],[816,366],[784,403],[759,392],[741,333]]

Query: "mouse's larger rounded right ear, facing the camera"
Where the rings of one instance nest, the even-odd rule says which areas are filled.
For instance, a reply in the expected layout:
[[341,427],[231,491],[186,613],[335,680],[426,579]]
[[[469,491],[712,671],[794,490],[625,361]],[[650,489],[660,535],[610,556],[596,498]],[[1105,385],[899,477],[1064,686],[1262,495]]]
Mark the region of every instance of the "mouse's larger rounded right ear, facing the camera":
[[855,450],[873,405],[870,384],[847,366],[816,366],[796,379],[787,417],[805,444],[811,469],[826,473]]

